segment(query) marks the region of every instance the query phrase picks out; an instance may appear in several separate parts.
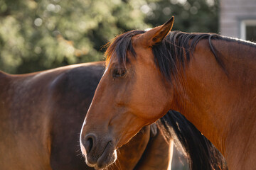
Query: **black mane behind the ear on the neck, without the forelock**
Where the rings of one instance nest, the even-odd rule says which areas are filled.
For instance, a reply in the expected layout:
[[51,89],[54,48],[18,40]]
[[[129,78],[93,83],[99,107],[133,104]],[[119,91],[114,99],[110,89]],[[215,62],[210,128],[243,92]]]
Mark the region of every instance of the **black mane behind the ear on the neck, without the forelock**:
[[209,48],[216,61],[225,70],[223,61],[216,55],[211,40],[220,39],[220,35],[212,33],[183,33],[174,31],[164,38],[158,45],[152,47],[155,63],[161,74],[169,81],[178,81],[177,73],[182,72],[191,60],[191,55],[200,40],[208,39]]

